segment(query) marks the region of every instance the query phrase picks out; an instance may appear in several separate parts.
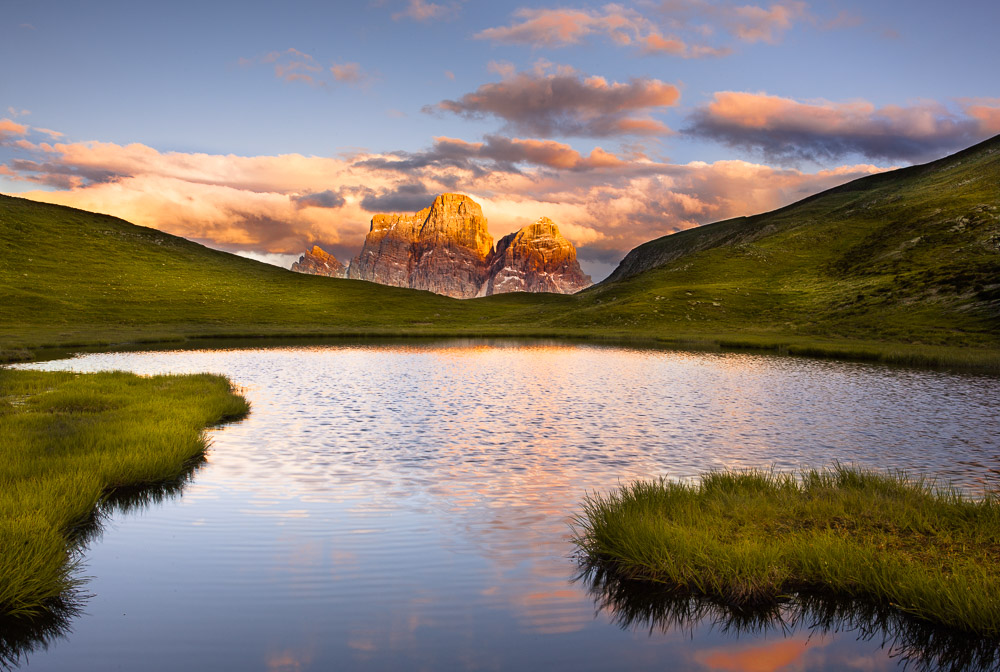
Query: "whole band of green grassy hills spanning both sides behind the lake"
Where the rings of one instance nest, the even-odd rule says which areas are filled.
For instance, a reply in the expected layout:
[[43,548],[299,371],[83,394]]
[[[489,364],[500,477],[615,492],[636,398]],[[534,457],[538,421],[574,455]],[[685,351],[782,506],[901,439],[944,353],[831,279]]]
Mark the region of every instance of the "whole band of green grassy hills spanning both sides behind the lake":
[[651,241],[574,296],[459,301],[301,275],[0,196],[0,305],[8,353],[196,336],[538,335],[1000,368],[1000,138]]

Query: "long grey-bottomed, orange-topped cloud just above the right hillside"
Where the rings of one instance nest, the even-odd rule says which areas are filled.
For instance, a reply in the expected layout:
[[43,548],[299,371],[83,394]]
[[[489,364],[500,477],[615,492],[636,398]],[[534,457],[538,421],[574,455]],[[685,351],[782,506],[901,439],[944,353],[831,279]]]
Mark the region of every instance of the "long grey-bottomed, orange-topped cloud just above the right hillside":
[[923,161],[1000,132],[996,99],[967,99],[956,113],[938,102],[876,107],[867,101],[799,102],[764,93],[722,91],[690,117],[686,132],[769,160]]

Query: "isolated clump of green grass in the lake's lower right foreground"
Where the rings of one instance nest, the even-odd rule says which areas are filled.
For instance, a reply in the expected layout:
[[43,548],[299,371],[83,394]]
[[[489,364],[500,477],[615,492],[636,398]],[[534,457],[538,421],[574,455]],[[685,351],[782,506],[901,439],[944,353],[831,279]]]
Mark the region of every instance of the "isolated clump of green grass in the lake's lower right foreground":
[[901,474],[718,472],[593,495],[585,561],[733,607],[795,595],[862,599],[1000,637],[1000,500]]

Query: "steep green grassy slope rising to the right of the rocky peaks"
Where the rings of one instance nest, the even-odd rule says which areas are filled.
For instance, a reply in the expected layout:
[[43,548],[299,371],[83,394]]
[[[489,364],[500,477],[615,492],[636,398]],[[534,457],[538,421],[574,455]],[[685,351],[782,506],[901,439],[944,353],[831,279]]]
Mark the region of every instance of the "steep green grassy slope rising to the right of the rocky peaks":
[[567,326],[667,322],[678,335],[995,349],[1000,138],[775,212],[660,238],[629,257],[584,293],[589,306]]

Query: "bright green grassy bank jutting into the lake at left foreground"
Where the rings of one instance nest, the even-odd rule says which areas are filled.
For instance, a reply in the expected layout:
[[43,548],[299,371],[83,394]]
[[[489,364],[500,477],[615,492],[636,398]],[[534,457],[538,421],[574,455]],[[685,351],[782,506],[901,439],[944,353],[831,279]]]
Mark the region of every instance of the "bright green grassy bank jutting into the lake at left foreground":
[[44,612],[103,497],[182,478],[202,430],[248,410],[219,376],[0,369],[0,614]]

